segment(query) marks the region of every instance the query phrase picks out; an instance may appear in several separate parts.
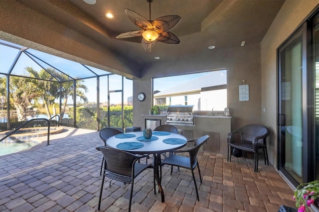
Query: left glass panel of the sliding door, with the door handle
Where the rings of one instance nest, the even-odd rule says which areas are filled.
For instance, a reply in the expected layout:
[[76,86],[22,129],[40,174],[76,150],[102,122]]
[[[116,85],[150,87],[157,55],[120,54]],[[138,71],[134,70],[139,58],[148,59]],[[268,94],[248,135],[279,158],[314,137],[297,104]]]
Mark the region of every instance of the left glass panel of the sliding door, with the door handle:
[[279,142],[280,168],[299,183],[303,178],[303,81],[302,36],[279,50]]

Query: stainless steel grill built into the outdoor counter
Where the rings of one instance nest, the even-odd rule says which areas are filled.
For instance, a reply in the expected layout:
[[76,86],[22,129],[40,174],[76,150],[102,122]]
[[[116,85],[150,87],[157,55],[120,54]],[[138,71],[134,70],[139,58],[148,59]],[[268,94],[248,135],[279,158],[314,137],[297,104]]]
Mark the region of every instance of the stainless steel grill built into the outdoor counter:
[[193,106],[169,106],[166,115],[166,124],[195,125],[192,115]]

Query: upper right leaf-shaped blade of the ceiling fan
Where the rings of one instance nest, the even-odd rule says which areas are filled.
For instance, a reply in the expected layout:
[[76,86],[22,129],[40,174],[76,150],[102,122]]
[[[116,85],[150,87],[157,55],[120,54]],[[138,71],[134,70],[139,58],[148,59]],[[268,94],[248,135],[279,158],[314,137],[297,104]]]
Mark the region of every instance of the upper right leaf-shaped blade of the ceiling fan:
[[174,28],[180,21],[179,15],[166,15],[155,19],[152,22],[153,28],[158,27],[158,33],[168,32]]

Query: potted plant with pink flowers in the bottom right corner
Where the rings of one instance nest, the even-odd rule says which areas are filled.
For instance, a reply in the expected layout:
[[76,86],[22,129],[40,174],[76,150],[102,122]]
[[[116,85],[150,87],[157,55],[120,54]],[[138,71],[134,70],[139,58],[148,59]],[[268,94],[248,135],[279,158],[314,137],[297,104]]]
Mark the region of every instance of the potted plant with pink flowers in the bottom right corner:
[[319,196],[319,181],[315,180],[309,183],[300,184],[294,192],[294,200],[296,201],[296,207],[298,212],[308,211],[308,207],[315,204],[316,199]]

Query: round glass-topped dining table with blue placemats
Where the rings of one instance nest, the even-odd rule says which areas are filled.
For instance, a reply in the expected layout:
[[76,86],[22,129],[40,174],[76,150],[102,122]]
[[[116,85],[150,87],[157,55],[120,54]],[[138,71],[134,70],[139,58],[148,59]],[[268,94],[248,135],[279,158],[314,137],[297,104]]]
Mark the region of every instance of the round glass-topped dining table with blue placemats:
[[160,176],[160,153],[171,152],[184,147],[187,138],[165,131],[153,131],[152,137],[146,139],[143,132],[128,132],[114,135],[107,139],[106,144],[110,147],[121,149],[133,154],[153,154],[156,181],[161,194],[161,202],[165,201],[161,187]]

